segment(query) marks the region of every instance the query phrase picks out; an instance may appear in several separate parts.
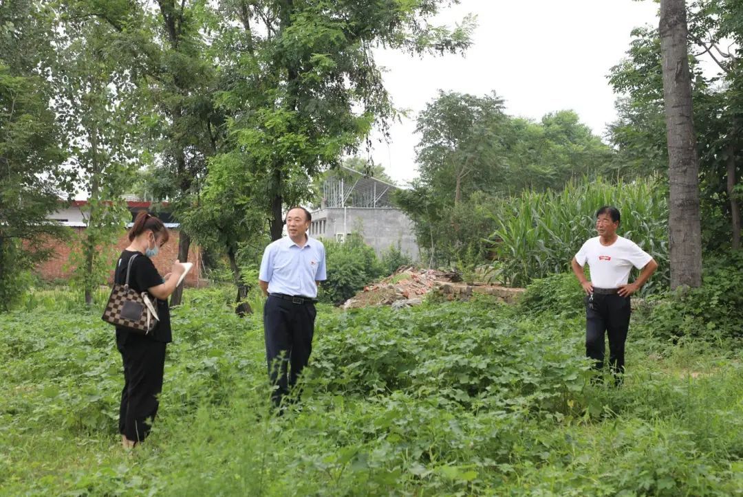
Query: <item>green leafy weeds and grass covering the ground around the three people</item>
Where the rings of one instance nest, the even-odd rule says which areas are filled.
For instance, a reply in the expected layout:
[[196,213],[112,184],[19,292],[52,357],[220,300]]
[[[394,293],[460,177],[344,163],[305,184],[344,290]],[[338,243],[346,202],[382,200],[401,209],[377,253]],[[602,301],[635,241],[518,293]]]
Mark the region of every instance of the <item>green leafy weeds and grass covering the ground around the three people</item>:
[[634,323],[615,389],[591,385],[580,317],[322,307],[303,409],[277,419],[261,316],[239,319],[227,297],[189,290],[173,312],[160,414],[133,454],[100,311],[39,298],[0,316],[0,493],[743,493],[739,348]]

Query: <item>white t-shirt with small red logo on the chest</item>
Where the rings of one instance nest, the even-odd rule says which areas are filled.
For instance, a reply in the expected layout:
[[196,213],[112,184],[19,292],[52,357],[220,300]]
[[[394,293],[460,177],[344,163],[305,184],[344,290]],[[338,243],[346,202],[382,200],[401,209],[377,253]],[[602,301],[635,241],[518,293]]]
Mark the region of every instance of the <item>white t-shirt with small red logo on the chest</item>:
[[596,288],[619,288],[629,281],[632,266],[642,269],[652,260],[634,241],[617,236],[609,247],[604,247],[600,237],[589,238],[575,254],[580,267],[588,262],[591,285]]

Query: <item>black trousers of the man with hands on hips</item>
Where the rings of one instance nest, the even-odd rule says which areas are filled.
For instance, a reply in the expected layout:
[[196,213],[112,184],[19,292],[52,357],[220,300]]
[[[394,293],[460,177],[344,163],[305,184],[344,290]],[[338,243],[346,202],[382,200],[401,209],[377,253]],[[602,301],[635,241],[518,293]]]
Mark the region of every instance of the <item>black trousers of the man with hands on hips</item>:
[[632,312],[629,297],[594,293],[594,308],[588,306],[588,297],[585,302],[585,355],[596,362],[596,368],[603,368],[604,334],[608,332],[609,366],[615,374],[623,373],[624,342]]

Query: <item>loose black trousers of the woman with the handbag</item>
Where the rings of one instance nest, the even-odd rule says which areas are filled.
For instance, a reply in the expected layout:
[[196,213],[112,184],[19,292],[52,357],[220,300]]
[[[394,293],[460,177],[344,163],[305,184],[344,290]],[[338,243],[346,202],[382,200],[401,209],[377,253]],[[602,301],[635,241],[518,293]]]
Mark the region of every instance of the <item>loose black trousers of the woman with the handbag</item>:
[[116,346],[124,363],[119,432],[131,441],[141,442],[149,435],[150,423],[158,414],[166,344],[139,334],[117,331]]

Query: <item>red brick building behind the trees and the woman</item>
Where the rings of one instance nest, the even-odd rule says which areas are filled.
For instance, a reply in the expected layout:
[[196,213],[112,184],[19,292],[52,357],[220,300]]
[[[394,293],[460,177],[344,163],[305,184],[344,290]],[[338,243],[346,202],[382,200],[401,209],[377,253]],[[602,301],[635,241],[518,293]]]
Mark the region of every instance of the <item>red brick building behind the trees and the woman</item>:
[[[74,231],[74,235],[68,242],[60,242],[56,240],[46,242],[48,246],[51,245],[51,247],[53,247],[53,256],[50,259],[47,259],[45,262],[42,262],[41,264],[36,266],[36,272],[39,273],[39,275],[42,276],[43,279],[66,279],[70,276],[72,272],[72,268],[70,267],[70,255],[73,250],[77,250],[76,238],[79,239],[82,233],[85,233],[86,223],[85,216],[83,215],[84,211],[82,209],[85,204],[85,201],[74,201],[69,207],[65,209],[59,209],[53,215],[49,216],[49,218],[55,221],[59,221],[59,224],[70,227],[71,230]],[[132,221],[134,221],[137,212],[140,212],[140,210],[148,210],[151,207],[152,203],[127,201],[126,205],[129,208],[129,212],[132,212]],[[167,207],[166,203],[161,205],[163,205],[163,207]],[[158,253],[158,256],[152,259],[152,262],[155,263],[155,267],[158,268],[160,274],[165,275],[169,272],[170,267],[172,266],[172,262],[174,262],[175,259],[178,258],[178,241],[181,238],[180,225],[177,222],[173,222],[174,220],[167,213],[158,214],[158,218],[160,218],[165,226],[168,228],[170,238],[168,240],[168,243],[160,248],[160,253]],[[127,225],[127,228],[131,226],[132,222],[130,221]],[[117,250],[118,252],[121,252],[121,250],[124,250],[128,246],[128,231],[124,230],[117,242]],[[204,280],[201,279],[201,251],[194,244],[191,244],[188,255],[188,262],[194,263],[194,267],[186,276],[184,285],[203,285]],[[113,267],[111,267],[111,278],[113,277],[113,274],[114,270]]]

